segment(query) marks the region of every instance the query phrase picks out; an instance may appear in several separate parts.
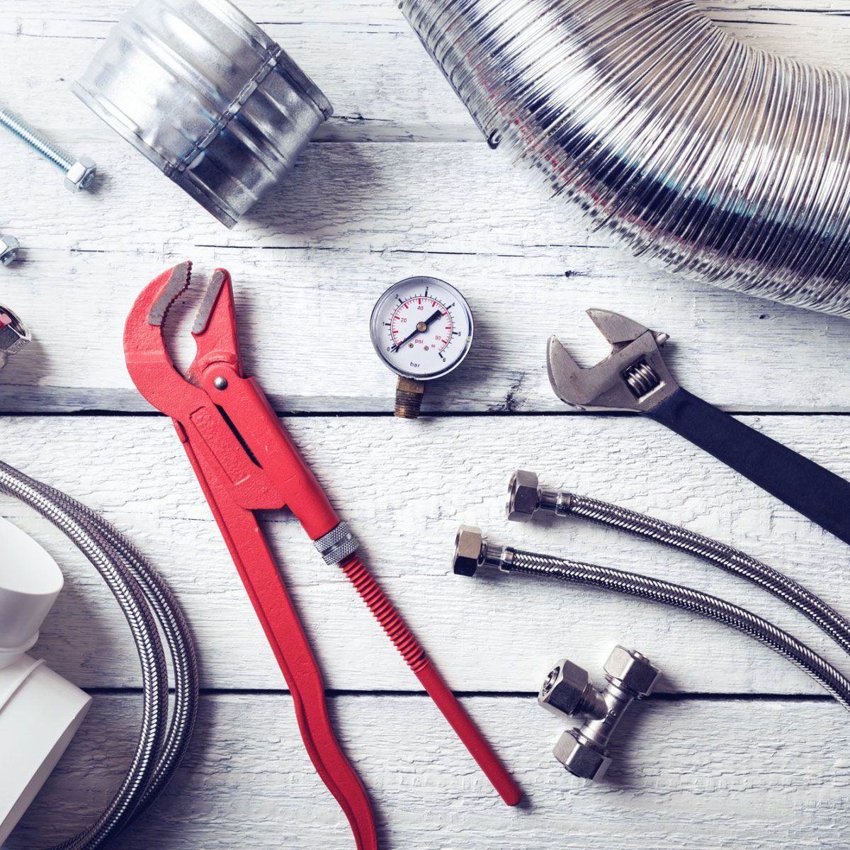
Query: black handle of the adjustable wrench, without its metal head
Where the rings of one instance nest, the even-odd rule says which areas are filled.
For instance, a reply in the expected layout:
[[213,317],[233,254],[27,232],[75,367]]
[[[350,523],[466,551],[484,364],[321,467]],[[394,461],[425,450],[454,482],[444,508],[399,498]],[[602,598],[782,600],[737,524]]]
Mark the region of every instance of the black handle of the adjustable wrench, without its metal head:
[[647,416],[850,543],[850,482],[681,387]]

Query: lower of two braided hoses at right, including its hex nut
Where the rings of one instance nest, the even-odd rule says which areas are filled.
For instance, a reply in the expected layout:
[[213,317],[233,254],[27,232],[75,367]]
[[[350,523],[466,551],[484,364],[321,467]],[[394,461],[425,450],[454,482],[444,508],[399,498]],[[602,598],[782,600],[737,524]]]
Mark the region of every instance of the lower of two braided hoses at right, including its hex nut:
[[484,540],[478,529],[462,526],[456,541],[455,571],[461,575],[475,575],[480,567],[495,567],[505,573],[538,575],[572,584],[602,587],[723,623],[790,660],[850,711],[850,681],[841,671],[779,626],[725,599],[648,575],[524,552],[511,547],[497,547]]

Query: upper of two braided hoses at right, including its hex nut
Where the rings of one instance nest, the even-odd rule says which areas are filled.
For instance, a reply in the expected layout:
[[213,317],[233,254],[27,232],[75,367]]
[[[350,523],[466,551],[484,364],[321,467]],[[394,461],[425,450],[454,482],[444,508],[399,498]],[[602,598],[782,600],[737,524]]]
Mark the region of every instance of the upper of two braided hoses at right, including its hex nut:
[[627,531],[634,536],[701,558],[733,575],[740,575],[800,611],[850,655],[850,622],[816,593],[740,549],[606,501],[578,496],[566,490],[541,488],[535,473],[519,470],[508,486],[508,519],[524,521],[531,519],[537,512],[576,517]]

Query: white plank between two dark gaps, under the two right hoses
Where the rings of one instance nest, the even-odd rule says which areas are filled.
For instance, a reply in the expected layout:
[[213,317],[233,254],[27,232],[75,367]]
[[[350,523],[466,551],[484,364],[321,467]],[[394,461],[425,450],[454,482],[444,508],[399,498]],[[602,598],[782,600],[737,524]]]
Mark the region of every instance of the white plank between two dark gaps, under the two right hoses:
[[[746,421],[850,475],[850,417]],[[588,416],[411,423],[365,416],[288,424],[362,538],[367,561],[455,689],[529,693],[558,657],[569,654],[596,667],[619,641],[657,660],[669,690],[819,693],[768,649],[681,612],[519,577],[451,575],[461,523],[479,524],[502,544],[718,593],[791,628],[846,666],[846,658],[802,617],[700,562],[586,524],[522,526],[503,519],[509,473],[519,466],[536,469],[552,486],[569,484],[738,545],[850,614],[844,544],[655,423]],[[0,419],[0,443],[4,461],[103,510],[150,556],[190,615],[205,687],[283,687],[170,422],[7,417]],[[4,499],[0,513],[43,541],[67,577],[38,651],[86,687],[138,683],[127,626],[94,570],[28,508]],[[329,686],[416,689],[371,615],[343,577],[321,564],[297,524],[272,513],[263,525]]]

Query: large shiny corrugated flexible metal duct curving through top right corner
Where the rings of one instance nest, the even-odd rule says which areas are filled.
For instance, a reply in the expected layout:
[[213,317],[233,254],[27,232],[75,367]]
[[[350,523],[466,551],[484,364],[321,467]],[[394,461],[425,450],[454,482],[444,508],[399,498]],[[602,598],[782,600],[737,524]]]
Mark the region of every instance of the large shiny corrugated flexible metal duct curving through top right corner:
[[401,0],[490,144],[632,250],[850,314],[850,77],[692,0]]

